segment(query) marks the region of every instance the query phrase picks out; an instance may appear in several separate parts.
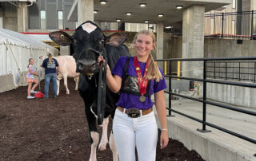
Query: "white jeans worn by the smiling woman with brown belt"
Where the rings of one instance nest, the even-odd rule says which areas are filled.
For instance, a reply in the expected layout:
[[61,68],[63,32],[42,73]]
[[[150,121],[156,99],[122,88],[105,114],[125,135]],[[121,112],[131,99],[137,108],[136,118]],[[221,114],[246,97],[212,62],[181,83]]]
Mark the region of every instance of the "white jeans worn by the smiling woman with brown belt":
[[130,118],[125,112],[115,110],[113,134],[120,161],[154,161],[158,142],[158,127],[154,112],[138,118]]

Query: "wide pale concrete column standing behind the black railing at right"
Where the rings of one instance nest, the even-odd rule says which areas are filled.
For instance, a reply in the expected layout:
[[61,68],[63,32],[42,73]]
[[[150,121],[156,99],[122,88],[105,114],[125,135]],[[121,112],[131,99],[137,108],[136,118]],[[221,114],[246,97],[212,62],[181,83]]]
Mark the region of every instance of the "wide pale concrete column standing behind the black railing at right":
[[[182,58],[204,57],[205,6],[190,6],[183,12]],[[182,77],[202,78],[202,61],[183,61]]]

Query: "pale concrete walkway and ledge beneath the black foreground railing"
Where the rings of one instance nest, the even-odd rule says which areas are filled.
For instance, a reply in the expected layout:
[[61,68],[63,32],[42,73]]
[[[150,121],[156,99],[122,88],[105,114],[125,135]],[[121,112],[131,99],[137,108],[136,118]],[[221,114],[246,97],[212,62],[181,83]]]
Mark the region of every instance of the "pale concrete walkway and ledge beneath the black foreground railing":
[[[167,94],[166,104],[168,104]],[[202,120],[202,103],[200,102],[187,99],[172,100],[172,108]],[[242,109],[256,112],[255,108]],[[198,128],[202,129],[201,123],[174,112],[172,115],[174,117],[167,118],[170,138],[178,139],[190,150],[194,149],[203,159],[210,161],[256,160],[256,144],[208,126],[206,129],[211,132],[198,132]],[[246,135],[251,139],[256,139],[255,116],[207,104],[206,121],[238,134]],[[158,127],[160,127],[159,122]]]

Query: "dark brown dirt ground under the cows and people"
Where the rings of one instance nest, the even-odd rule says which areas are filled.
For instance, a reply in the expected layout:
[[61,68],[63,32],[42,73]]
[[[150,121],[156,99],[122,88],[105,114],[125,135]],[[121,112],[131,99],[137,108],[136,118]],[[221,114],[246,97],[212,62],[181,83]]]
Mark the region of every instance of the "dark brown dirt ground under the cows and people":
[[[70,95],[66,95],[61,81],[57,99],[27,100],[27,87],[0,93],[0,160],[89,160],[90,137],[83,100],[74,91],[74,81],[68,83]],[[43,86],[41,81],[41,92]],[[108,129],[110,134],[111,124]],[[110,148],[98,152],[97,158],[112,160]],[[203,159],[178,140],[170,139],[166,149],[157,149],[157,161],[166,160]]]

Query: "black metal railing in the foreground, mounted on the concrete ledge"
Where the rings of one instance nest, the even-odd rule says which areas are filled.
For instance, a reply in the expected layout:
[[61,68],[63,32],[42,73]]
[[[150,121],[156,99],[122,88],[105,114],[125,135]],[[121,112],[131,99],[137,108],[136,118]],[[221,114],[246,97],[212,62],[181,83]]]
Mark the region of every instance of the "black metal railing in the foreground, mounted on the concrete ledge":
[[[206,84],[207,83],[229,84],[229,85],[240,86],[240,87],[256,88],[256,84],[254,84],[254,83],[244,83],[244,82],[238,82],[238,81],[224,81],[224,80],[220,81],[220,80],[214,80],[214,79],[207,78],[206,77],[206,69],[207,69],[206,64],[207,64],[208,61],[256,61],[256,57],[228,57],[228,58],[218,57],[218,58],[191,58],[191,59],[163,59],[163,60],[156,60],[156,61],[166,61],[166,62],[168,62],[169,63],[169,71],[171,71],[171,64],[174,61],[203,61],[203,69],[202,69],[203,70],[203,78],[202,79],[200,79],[200,78],[191,78],[191,77],[177,77],[177,76],[173,76],[173,75],[170,75],[170,74],[165,75],[165,77],[167,77],[169,79],[169,91],[165,91],[165,93],[167,93],[169,95],[169,106],[167,107],[167,110],[169,111],[168,116],[171,116],[171,112],[175,112],[175,113],[178,113],[179,115],[186,116],[186,117],[190,118],[191,120],[198,121],[199,123],[202,123],[202,129],[198,130],[200,132],[209,132],[208,130],[206,130],[206,125],[207,125],[207,126],[210,126],[212,128],[216,128],[216,129],[218,129],[222,132],[226,132],[230,135],[235,135],[238,138],[245,139],[245,140],[247,140],[251,143],[256,143],[255,139],[249,138],[245,135],[240,135],[236,132],[232,132],[232,131],[230,131],[226,128],[219,127],[216,124],[210,124],[209,122],[206,121],[206,104],[211,104],[211,105],[217,106],[219,108],[226,108],[226,109],[229,109],[231,111],[244,113],[244,114],[247,114],[247,115],[250,115],[250,116],[256,116],[256,112],[251,112],[251,111],[244,110],[244,109],[241,109],[241,108],[236,108],[236,107],[233,107],[233,106],[230,106],[230,105],[227,105],[227,104],[217,103],[217,102],[214,102],[212,100],[208,100],[206,98],[206,90],[207,90],[206,89]],[[181,95],[181,94],[172,92],[172,90],[171,90],[171,79],[172,78],[181,79],[181,80],[183,79],[183,80],[189,80],[189,81],[201,81],[201,82],[203,82],[203,94],[202,94],[203,96],[202,96],[202,99],[194,98],[192,96],[185,96],[185,95]],[[171,96],[172,95],[180,96],[182,98],[186,98],[186,99],[190,99],[190,100],[195,100],[195,101],[198,101],[198,102],[202,102],[202,120],[199,120],[198,118],[195,118],[193,116],[189,116],[189,115],[186,115],[185,113],[178,112],[177,110],[174,110],[171,107]]]

